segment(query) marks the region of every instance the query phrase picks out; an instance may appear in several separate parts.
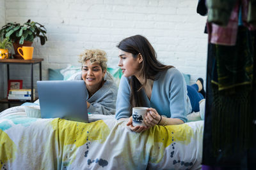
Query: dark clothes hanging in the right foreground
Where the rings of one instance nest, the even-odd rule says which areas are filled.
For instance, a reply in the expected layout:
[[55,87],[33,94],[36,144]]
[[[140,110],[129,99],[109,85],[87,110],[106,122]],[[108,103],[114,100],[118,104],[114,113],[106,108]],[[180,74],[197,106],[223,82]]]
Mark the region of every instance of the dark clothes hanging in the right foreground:
[[[207,0],[209,46],[202,164],[212,169],[254,167],[256,32],[253,22],[248,21],[248,16],[254,14],[249,10],[246,13],[248,6],[255,6],[253,2]],[[237,26],[239,9],[243,15],[241,26]],[[214,34],[212,22],[217,30]],[[230,27],[232,22],[237,23],[236,27]],[[226,34],[228,30],[232,33]],[[216,33],[219,38],[212,41]]]

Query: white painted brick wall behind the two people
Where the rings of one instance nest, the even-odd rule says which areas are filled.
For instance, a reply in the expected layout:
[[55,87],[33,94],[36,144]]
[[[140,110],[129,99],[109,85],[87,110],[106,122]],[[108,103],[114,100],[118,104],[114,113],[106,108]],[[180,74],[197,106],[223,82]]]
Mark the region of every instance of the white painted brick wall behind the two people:
[[[47,29],[49,41],[44,46],[38,39],[33,43],[34,57],[44,58],[44,80],[49,67],[79,66],[77,55],[85,48],[106,50],[109,66],[117,66],[116,45],[134,34],[146,36],[164,64],[191,74],[192,80],[205,79],[206,18],[196,13],[197,3],[197,0],[5,0],[6,22],[24,23],[31,19]],[[29,68],[12,67],[11,78],[21,78],[29,86]]]

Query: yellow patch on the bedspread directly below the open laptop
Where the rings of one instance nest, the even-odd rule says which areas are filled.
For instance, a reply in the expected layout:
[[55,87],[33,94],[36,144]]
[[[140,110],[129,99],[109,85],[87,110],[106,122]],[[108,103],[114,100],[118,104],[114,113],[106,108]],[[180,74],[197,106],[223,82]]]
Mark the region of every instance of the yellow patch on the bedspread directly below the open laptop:
[[58,132],[56,140],[63,148],[62,162],[65,167],[76,160],[77,148],[85,146],[88,141],[97,141],[97,143],[102,144],[106,141],[110,132],[108,125],[103,120],[86,124],[55,118],[51,125],[54,131]]

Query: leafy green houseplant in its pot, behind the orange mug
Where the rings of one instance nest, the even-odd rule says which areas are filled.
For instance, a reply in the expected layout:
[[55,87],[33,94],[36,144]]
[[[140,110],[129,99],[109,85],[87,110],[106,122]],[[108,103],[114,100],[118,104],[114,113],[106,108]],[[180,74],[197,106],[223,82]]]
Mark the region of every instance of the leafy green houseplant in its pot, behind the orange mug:
[[13,57],[22,59],[17,52],[18,47],[31,46],[36,37],[40,38],[41,45],[47,41],[46,29],[38,22],[28,20],[23,25],[16,22],[9,22],[0,30],[1,38],[8,38],[13,43],[15,55]]

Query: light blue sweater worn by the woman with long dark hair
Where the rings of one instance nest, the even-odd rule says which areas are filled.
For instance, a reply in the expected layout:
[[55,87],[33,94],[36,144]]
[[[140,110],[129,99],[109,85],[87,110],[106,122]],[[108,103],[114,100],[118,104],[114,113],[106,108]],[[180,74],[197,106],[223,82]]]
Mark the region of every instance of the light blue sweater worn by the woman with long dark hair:
[[[170,68],[158,73],[159,78],[154,80],[150,100],[143,90],[143,103],[145,107],[155,108],[159,115],[169,118],[179,118],[187,122],[186,116],[191,113],[191,104],[187,95],[184,77],[179,70]],[[118,87],[116,99],[116,119],[131,117],[129,110],[131,77],[122,76]]]

